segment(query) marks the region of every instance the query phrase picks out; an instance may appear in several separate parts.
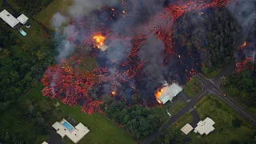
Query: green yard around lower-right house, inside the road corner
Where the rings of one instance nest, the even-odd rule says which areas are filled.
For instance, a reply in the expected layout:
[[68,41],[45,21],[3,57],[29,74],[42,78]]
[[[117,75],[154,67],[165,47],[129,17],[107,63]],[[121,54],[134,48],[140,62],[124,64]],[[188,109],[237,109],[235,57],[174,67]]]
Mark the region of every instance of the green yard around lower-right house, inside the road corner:
[[[206,117],[214,120],[215,130],[208,135],[202,136],[194,134],[191,131],[189,136],[194,144],[198,144],[199,142],[228,143],[232,140],[242,142],[249,140],[250,136],[254,134],[254,130],[252,130],[252,127],[247,122],[239,117],[238,114],[232,112],[230,107],[226,106],[226,103],[222,102],[213,94],[209,95],[206,101],[198,106],[196,110],[202,120]],[[234,119],[239,119],[241,126],[234,127],[232,124]],[[192,119],[190,117],[186,118],[176,128],[182,128],[187,122],[192,122]]]

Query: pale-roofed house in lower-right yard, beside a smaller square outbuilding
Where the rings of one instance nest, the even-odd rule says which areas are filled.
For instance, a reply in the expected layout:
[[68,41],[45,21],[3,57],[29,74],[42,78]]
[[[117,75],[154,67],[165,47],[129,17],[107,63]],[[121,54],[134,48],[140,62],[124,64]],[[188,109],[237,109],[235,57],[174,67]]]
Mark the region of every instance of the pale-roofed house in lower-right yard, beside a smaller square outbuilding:
[[198,126],[194,128],[194,133],[209,134],[211,131],[214,131],[214,121],[211,118],[206,118],[204,121],[198,122]]

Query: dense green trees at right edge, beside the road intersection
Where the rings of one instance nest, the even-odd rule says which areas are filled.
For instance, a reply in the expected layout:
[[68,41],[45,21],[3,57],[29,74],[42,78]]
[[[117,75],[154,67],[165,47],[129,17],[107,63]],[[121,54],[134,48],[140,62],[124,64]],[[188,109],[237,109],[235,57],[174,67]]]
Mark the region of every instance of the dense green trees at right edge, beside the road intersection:
[[[252,63],[248,63],[249,67],[253,67]],[[255,65],[254,65],[255,67]],[[239,74],[232,74],[228,78],[222,78],[224,85],[230,93],[240,102],[243,102],[249,108],[256,108],[256,70],[247,69]]]

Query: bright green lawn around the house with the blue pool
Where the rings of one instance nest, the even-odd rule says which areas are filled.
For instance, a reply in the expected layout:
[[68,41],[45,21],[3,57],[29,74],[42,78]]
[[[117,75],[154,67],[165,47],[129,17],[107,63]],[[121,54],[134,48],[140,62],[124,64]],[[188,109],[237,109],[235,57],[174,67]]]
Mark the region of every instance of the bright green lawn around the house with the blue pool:
[[[42,98],[45,98],[42,96],[41,91],[42,84],[31,90],[29,94],[22,96],[19,99],[19,102],[25,102],[26,99],[39,101]],[[54,101],[56,102],[57,100],[53,100],[53,102]],[[126,134],[124,130],[118,128],[114,122],[110,122],[106,116],[99,113],[84,114],[80,106],[67,106],[61,102],[60,104],[59,107],[64,111],[63,118],[70,115],[76,122],[82,122],[90,130],[90,133],[86,134],[86,137],[82,138],[78,143],[135,143],[129,134]],[[58,120],[59,119],[54,117],[46,118],[46,121],[50,126]],[[68,143],[72,142],[68,141]]]

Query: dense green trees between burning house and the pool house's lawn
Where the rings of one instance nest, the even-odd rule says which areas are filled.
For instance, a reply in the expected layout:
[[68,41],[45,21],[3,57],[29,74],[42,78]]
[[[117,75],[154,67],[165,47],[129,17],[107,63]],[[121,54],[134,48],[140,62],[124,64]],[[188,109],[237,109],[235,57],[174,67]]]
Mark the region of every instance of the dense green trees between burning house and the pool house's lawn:
[[125,102],[115,101],[112,96],[103,96],[101,109],[136,139],[146,138],[160,126],[160,119],[150,108],[139,105],[126,107]]

